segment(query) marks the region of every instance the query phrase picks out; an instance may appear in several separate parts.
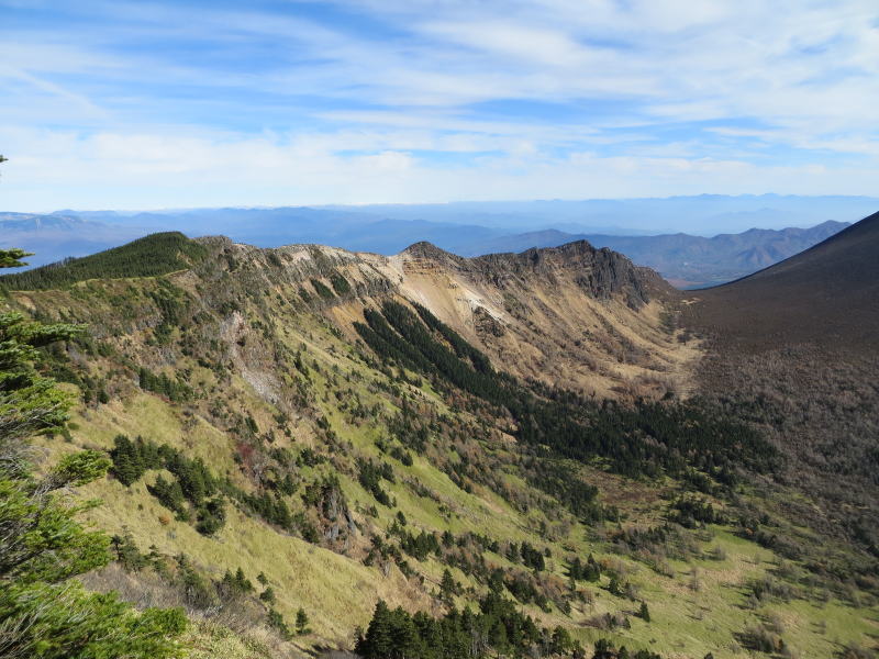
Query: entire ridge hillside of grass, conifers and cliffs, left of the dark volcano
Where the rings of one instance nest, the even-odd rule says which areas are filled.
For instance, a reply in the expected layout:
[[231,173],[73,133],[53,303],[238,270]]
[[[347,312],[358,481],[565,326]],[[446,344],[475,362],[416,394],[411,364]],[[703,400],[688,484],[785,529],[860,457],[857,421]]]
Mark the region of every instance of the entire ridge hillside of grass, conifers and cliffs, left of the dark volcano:
[[[734,402],[671,289],[585,242],[454,257],[159,234],[0,278],[84,335],[37,445],[192,657],[869,656],[876,557]],[[786,550],[795,543],[798,555]],[[848,655],[845,655],[848,652]]]

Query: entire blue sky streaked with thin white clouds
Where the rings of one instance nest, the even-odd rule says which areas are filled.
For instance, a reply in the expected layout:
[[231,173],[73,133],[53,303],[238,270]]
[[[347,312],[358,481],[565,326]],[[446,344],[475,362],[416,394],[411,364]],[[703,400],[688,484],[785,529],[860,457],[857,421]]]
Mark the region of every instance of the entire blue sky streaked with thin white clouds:
[[875,194],[875,0],[0,0],[0,210]]

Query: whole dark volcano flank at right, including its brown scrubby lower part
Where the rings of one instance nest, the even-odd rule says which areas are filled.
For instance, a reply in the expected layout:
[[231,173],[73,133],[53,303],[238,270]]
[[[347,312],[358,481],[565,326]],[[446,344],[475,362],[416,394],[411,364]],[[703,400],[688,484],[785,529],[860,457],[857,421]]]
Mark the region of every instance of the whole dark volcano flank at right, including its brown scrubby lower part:
[[703,391],[737,401],[789,456],[799,514],[879,552],[879,213],[776,266],[686,294]]

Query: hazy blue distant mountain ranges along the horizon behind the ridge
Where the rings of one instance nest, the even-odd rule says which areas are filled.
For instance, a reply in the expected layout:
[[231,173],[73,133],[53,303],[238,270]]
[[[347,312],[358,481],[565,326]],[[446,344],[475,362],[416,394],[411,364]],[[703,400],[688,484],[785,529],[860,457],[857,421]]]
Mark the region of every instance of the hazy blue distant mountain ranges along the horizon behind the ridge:
[[[844,220],[861,216],[861,208],[877,203],[868,198],[770,194],[141,213],[0,213],[0,246],[24,246],[36,253],[29,263],[38,266],[170,230],[190,236],[223,234],[258,247],[315,243],[385,255],[397,254],[421,241],[459,256],[479,256],[586,239],[656,269],[675,286],[699,288],[744,277],[806,249],[847,226]],[[782,228],[782,221],[789,227]],[[703,235],[710,227],[755,225],[771,228]],[[649,235],[645,226],[685,228],[688,233]]]

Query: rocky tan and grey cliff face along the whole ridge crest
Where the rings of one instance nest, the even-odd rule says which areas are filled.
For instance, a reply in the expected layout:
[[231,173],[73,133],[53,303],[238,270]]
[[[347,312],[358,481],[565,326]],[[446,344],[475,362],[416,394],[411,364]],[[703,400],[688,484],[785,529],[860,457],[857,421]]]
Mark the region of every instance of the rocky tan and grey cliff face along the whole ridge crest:
[[[385,257],[319,245],[259,249],[204,238],[215,255],[194,276],[211,304],[281,294],[356,338],[363,309],[383,299],[425,305],[499,369],[599,395],[685,393],[696,348],[660,323],[675,294],[658,275],[586,241],[463,258],[430,243]],[[515,355],[515,359],[510,357]]]

